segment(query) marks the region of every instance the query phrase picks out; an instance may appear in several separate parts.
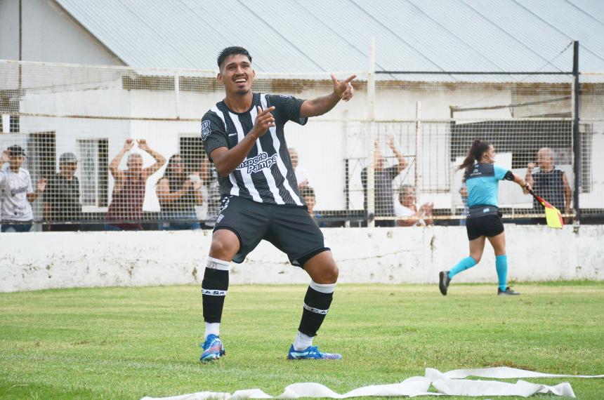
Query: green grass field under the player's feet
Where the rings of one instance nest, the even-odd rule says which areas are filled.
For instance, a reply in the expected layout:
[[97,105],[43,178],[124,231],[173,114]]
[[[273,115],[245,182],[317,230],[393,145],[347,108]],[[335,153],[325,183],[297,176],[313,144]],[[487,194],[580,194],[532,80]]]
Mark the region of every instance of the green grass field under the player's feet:
[[[604,282],[494,285],[341,285],[315,339],[342,361],[287,361],[305,286],[231,286],[221,337],[227,354],[199,364],[197,286],[93,288],[0,294],[0,397],[140,399],[294,382],[336,392],[400,382],[424,368],[511,366],[604,373]],[[515,382],[516,380],[511,380]],[[604,379],[571,383],[603,399]],[[539,396],[539,398],[549,398]]]

